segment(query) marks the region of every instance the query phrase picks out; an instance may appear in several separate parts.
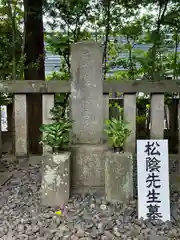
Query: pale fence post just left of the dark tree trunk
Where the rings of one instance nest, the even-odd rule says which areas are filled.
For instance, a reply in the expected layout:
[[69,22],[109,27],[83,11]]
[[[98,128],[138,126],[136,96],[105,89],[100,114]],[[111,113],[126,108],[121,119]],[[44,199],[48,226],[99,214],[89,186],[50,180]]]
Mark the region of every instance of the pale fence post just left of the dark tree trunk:
[[14,95],[15,155],[28,155],[27,148],[27,103],[26,94]]

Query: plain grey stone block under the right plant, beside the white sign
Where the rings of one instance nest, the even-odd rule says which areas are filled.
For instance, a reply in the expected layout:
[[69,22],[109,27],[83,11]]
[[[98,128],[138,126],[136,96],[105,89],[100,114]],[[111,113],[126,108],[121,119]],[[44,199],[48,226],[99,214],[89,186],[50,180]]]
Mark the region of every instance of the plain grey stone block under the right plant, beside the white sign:
[[105,194],[109,202],[128,202],[133,198],[133,156],[105,152]]

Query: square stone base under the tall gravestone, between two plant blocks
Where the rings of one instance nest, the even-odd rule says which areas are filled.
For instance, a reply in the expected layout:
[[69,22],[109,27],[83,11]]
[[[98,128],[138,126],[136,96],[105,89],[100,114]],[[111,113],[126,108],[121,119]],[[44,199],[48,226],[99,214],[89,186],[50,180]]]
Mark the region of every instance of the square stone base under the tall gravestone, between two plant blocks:
[[106,145],[72,146],[73,189],[104,187],[104,151]]

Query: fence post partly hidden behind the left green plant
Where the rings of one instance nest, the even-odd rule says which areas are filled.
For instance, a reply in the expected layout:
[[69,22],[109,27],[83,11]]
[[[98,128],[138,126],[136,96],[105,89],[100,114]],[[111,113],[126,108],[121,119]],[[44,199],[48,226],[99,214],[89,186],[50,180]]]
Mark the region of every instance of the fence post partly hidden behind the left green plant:
[[[54,94],[43,94],[42,95],[42,123],[52,123],[50,110],[54,107]],[[43,133],[45,136],[45,134]],[[51,151],[49,146],[43,146],[43,154]]]

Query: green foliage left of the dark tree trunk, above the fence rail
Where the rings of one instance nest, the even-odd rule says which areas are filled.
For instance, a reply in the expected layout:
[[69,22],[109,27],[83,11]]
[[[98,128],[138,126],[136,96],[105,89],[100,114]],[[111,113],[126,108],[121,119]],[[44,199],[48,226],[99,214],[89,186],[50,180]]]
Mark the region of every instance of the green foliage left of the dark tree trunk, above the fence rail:
[[[12,17],[12,20],[10,17]],[[0,6],[0,78],[12,79],[20,76],[22,68],[22,34],[18,24],[22,18],[18,6],[11,9],[6,3]],[[13,23],[15,23],[13,25]],[[16,65],[16,66],[15,66]],[[13,73],[13,67],[15,72]],[[13,76],[16,74],[16,76]]]

